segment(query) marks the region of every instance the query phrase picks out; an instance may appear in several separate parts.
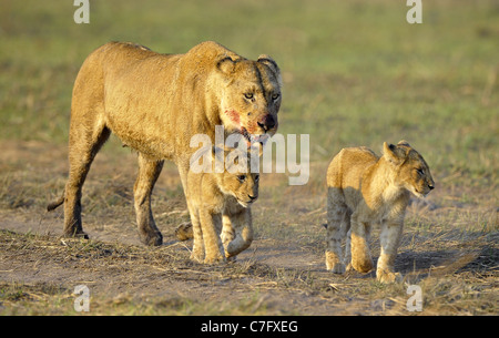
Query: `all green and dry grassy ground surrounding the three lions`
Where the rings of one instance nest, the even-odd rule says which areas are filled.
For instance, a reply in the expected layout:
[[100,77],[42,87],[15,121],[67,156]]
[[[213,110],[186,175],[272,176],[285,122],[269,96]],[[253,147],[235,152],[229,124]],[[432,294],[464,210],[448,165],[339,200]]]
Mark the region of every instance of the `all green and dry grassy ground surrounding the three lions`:
[[[0,314],[73,315],[75,285],[91,289],[91,315],[410,315],[407,284],[422,289],[422,315],[498,315],[497,3],[425,2],[424,24],[405,3],[379,0],[264,2],[2,3],[0,35]],[[272,13],[272,14],[268,14]],[[184,52],[216,40],[248,58],[268,53],[283,70],[279,132],[310,135],[310,180],[262,177],[256,239],[236,264],[191,263],[175,226],[189,219],[176,168],[166,164],[153,212],[165,246],[139,245],[132,186],[136,158],[115,139],[83,190],[90,242],[62,242],[59,197],[68,172],[71,86],[85,55],[111,40]],[[33,58],[35,55],[35,58]],[[408,209],[396,268],[403,284],[373,274],[325,272],[325,173],[342,147],[408,140],[436,181]],[[379,254],[375,232],[371,246]]]

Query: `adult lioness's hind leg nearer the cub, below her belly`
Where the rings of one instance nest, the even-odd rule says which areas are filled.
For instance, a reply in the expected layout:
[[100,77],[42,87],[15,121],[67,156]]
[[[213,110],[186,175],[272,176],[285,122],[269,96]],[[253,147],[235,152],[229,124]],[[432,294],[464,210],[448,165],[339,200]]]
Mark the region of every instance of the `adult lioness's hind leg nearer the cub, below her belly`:
[[145,245],[162,245],[163,236],[157,229],[151,211],[151,193],[163,168],[164,161],[154,161],[139,153],[139,175],[133,186],[139,236]]

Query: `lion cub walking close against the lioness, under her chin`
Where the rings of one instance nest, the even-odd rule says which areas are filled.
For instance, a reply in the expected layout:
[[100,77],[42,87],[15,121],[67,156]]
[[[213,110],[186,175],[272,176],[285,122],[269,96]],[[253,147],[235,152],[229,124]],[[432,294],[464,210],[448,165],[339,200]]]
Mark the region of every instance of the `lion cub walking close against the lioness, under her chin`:
[[[216,147],[213,151],[216,161]],[[194,235],[191,259],[205,264],[235,257],[253,242],[251,205],[258,197],[259,175],[249,172],[249,152],[225,148],[220,153],[224,158],[218,161],[230,158],[223,173],[191,170],[187,174],[186,199]]]

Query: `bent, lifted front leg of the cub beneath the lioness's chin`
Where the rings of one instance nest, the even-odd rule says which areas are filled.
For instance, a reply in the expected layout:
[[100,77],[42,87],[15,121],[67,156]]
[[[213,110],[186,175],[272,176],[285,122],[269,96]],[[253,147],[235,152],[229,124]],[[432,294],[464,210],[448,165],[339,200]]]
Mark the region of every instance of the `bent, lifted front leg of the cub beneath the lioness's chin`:
[[[245,208],[236,214],[224,215],[222,240],[227,258],[247,249],[253,242],[252,213]],[[228,231],[231,227],[231,231]]]

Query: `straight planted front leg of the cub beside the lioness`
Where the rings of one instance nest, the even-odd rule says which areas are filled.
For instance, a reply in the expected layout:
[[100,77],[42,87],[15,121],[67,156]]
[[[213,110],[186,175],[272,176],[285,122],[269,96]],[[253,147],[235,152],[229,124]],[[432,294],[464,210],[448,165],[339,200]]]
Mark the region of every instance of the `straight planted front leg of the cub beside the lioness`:
[[200,222],[205,250],[204,263],[225,262],[224,246],[218,235],[222,231],[222,215],[212,215],[208,211],[201,209]]

